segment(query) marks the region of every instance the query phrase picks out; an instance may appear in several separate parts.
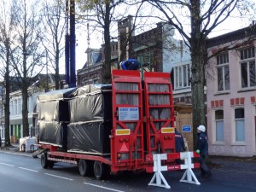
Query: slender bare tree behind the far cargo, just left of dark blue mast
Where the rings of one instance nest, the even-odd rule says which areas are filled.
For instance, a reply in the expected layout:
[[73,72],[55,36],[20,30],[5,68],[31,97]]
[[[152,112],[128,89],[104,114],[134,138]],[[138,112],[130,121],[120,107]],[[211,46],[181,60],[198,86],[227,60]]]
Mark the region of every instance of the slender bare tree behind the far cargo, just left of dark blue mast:
[[65,3],[54,0],[44,2],[44,39],[46,56],[55,70],[55,90],[60,89],[60,60],[64,54]]

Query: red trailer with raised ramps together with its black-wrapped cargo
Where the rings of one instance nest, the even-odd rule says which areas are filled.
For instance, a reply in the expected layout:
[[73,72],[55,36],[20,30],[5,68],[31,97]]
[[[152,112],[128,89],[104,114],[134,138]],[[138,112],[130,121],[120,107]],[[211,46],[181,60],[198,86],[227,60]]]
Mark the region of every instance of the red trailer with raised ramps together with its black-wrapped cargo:
[[[175,153],[174,121],[169,73],[145,72],[142,80],[139,71],[113,70],[112,84],[49,91],[38,96],[41,165],[72,163],[97,179],[148,172],[147,155]],[[168,157],[162,165],[179,169]]]

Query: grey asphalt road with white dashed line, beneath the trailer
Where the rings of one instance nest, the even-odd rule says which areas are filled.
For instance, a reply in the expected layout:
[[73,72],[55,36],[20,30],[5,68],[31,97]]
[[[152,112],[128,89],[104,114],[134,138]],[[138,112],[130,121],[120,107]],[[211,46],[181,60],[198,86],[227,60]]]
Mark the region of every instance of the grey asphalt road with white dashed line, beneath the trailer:
[[[2,152],[2,153],[1,153]],[[171,189],[148,186],[153,174],[123,172],[98,181],[81,177],[77,166],[57,163],[53,169],[43,169],[40,159],[32,154],[6,154],[0,151],[0,192],[30,191],[189,191],[189,192],[255,192],[256,162],[241,162],[212,158],[212,177],[198,177],[200,185],[181,183],[183,172],[163,172]],[[24,155],[24,156],[23,156]],[[199,175],[199,170],[194,170]]]

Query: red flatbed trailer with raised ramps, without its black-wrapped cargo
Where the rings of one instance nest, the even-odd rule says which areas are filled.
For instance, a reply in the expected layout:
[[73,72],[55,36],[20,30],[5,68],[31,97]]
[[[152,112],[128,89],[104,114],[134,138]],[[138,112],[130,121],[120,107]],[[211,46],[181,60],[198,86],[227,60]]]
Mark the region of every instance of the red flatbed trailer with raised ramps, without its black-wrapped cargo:
[[[41,144],[41,165],[52,168],[55,162],[79,166],[86,176],[94,172],[102,179],[109,172],[152,170],[151,154],[169,154],[165,165],[173,166],[175,153],[174,108],[169,73],[143,74],[139,71],[113,70],[112,107],[113,127],[110,154],[96,155],[63,152],[61,148]],[[151,171],[150,171],[151,172]]]

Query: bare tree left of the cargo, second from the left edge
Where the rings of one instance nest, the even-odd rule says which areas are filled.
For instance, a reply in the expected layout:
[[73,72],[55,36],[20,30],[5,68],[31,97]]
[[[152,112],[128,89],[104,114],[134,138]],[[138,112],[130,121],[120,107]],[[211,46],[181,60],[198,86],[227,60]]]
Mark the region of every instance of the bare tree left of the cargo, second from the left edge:
[[32,84],[32,77],[39,73],[42,49],[42,29],[40,28],[42,18],[38,10],[39,1],[14,1],[14,23],[15,23],[15,52],[12,54],[13,67],[22,93],[22,124],[23,137],[29,136],[28,125],[28,88]]

